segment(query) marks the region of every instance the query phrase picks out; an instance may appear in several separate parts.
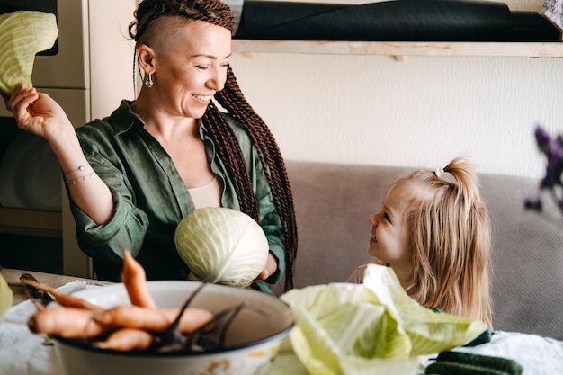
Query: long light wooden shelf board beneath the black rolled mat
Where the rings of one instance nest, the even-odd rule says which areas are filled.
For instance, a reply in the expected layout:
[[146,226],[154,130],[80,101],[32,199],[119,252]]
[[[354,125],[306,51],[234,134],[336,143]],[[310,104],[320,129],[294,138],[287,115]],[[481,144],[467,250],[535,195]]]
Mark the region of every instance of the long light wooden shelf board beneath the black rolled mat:
[[233,40],[233,52],[563,58],[562,42]]

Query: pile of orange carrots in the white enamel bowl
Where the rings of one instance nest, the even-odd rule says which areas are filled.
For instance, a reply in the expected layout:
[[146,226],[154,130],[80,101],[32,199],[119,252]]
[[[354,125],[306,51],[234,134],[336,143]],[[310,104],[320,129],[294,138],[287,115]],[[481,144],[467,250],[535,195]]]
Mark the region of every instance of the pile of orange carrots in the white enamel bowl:
[[121,281],[131,305],[104,309],[38,282],[22,280],[49,292],[60,305],[39,308],[28,322],[31,332],[82,340],[103,349],[131,351],[149,349],[158,340],[157,335],[173,325],[176,332],[190,334],[213,321],[206,309],[157,308],[146,288],[145,270],[128,251],[123,257]]

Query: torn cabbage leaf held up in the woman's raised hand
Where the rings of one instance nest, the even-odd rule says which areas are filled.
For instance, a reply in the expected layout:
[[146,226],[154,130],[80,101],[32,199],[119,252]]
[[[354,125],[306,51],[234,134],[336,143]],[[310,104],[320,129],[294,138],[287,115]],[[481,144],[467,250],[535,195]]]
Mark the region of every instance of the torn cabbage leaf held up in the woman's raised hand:
[[16,11],[0,15],[0,90],[11,95],[31,84],[35,55],[50,49],[58,37],[55,14]]

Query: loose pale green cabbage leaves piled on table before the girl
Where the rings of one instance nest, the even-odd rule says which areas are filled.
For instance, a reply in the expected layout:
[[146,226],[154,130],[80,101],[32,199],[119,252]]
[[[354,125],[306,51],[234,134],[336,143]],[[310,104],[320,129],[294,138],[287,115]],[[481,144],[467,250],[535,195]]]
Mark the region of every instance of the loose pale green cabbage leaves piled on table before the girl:
[[363,284],[332,283],[280,297],[296,327],[293,351],[312,375],[416,373],[419,356],[468,344],[484,322],[435,313],[408,297],[390,267],[370,264]]

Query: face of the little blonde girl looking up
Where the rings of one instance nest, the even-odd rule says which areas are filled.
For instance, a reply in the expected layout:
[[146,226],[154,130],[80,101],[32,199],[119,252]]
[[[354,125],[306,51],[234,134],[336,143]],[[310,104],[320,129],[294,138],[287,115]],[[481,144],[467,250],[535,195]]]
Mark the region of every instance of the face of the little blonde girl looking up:
[[368,253],[393,268],[408,270],[411,254],[406,222],[407,205],[412,195],[405,184],[392,187],[383,207],[370,216],[370,244]]

